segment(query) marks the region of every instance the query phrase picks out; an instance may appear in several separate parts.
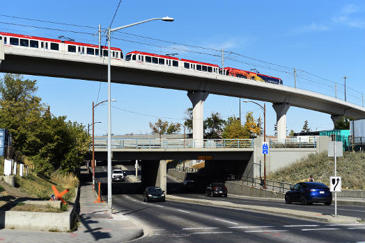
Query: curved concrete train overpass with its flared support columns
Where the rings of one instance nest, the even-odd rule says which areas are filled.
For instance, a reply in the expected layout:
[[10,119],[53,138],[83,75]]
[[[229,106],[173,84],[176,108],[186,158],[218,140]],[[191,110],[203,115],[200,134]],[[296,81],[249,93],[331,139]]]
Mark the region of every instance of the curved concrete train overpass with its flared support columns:
[[[107,59],[66,51],[4,45],[0,40],[0,72],[107,82]],[[192,71],[183,67],[111,60],[111,81],[174,90],[186,90],[193,106],[193,138],[203,139],[203,103],[208,94],[271,102],[277,112],[277,134],[286,138],[290,106],[331,115],[365,117],[365,108],[316,92],[246,78]]]

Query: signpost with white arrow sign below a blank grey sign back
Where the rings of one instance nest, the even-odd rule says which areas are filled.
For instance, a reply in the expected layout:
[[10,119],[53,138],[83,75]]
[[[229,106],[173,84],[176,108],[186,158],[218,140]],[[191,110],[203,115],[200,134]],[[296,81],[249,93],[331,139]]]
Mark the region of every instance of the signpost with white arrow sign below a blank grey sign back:
[[337,217],[337,192],[341,192],[341,176],[336,176],[336,164],[337,156],[343,156],[342,150],[342,142],[336,142],[336,136],[332,136],[332,142],[328,143],[328,157],[334,157],[334,176],[329,178],[329,189],[331,192],[334,192],[334,217]]

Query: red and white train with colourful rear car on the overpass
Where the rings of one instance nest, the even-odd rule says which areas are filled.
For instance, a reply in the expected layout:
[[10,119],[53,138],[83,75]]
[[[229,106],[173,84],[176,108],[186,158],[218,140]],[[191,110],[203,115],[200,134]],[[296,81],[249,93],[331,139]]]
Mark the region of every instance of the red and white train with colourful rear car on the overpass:
[[[10,47],[24,47],[33,49],[42,49],[45,51],[63,51],[67,53],[75,53],[78,55],[99,56],[99,47],[95,44],[86,44],[81,42],[63,41],[57,39],[49,39],[36,37],[31,35],[18,35],[13,33],[0,32],[0,40],[4,45]],[[108,48],[100,47],[102,57],[108,56]],[[111,58],[123,60],[123,51],[117,47],[111,47]],[[162,65],[166,67],[176,67],[182,69],[194,70],[197,72],[207,72],[212,74],[222,74],[222,69],[218,65],[198,62],[195,60],[179,59],[173,56],[163,56],[154,53],[142,51],[132,51],[127,53],[125,60],[128,62],[141,62],[151,65]],[[224,74],[227,76],[235,76],[238,78],[248,78],[266,83],[274,83],[282,85],[281,78],[275,78],[264,74],[235,69],[233,67],[225,67]]]

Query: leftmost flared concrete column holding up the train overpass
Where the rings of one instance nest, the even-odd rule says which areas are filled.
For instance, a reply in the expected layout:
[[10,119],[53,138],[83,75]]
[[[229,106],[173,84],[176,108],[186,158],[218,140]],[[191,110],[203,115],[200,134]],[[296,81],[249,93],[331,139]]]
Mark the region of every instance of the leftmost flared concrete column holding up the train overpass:
[[187,97],[193,105],[193,140],[196,148],[203,147],[203,103],[208,94],[208,92],[202,91],[187,92]]

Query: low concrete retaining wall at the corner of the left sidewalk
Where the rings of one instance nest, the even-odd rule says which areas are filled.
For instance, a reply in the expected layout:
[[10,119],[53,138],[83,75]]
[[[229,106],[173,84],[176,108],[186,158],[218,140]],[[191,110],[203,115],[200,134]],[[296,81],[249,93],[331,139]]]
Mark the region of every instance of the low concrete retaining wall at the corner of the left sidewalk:
[[79,187],[65,212],[0,211],[0,228],[27,231],[70,231],[79,213]]

